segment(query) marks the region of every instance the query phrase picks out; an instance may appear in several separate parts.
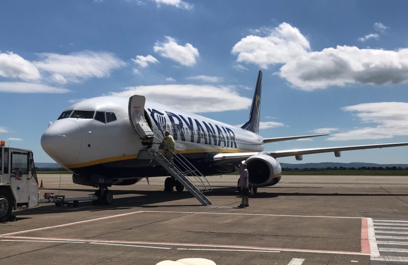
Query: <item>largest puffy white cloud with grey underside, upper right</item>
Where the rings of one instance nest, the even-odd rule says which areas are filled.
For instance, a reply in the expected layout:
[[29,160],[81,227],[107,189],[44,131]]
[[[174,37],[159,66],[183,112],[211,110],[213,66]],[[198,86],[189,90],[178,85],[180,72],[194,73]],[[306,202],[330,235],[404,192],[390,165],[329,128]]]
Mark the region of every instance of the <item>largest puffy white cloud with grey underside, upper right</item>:
[[408,49],[387,51],[337,46],[310,52],[306,37],[287,23],[274,28],[268,36],[250,35],[241,39],[232,53],[238,55],[238,62],[255,63],[262,68],[283,64],[277,74],[292,86],[307,91],[332,85],[408,81]]

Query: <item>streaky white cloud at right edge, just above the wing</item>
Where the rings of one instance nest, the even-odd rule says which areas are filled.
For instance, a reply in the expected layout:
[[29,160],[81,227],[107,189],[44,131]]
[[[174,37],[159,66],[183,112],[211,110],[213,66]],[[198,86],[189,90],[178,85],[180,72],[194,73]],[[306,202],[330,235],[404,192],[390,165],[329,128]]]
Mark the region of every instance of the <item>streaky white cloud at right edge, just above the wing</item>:
[[354,128],[347,132],[335,133],[327,140],[384,139],[408,135],[408,103],[365,103],[347,106],[343,110],[353,112],[363,123],[371,123],[375,126]]

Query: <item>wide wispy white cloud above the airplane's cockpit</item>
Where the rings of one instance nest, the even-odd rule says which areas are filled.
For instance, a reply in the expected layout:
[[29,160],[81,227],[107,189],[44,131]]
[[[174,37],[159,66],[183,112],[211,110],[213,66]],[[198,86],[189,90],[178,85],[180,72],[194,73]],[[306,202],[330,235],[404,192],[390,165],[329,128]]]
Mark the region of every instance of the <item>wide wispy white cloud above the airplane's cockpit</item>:
[[80,82],[90,78],[109,77],[115,69],[126,63],[113,53],[84,51],[68,55],[39,53],[39,61],[34,62],[40,71],[52,75],[54,81]]

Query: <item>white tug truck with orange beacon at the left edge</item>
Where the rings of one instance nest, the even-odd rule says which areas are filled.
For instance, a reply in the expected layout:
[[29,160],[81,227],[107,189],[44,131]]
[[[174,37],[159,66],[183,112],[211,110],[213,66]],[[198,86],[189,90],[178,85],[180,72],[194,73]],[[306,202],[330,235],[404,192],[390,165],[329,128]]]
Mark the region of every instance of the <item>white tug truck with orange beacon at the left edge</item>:
[[0,141],[0,222],[13,210],[38,205],[38,180],[31,150],[5,146]]

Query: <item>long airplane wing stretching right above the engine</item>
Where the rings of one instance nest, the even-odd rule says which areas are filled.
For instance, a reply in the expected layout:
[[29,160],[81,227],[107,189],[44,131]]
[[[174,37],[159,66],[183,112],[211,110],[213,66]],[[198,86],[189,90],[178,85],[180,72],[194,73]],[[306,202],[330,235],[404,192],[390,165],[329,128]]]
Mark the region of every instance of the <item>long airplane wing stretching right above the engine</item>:
[[302,155],[330,153],[334,152],[336,157],[340,157],[341,151],[372,149],[372,148],[385,148],[396,146],[407,146],[408,143],[391,143],[391,144],[371,144],[371,145],[354,145],[354,146],[342,146],[342,147],[325,147],[325,148],[310,148],[310,149],[293,149],[284,151],[263,151],[263,152],[249,152],[249,153],[221,153],[214,156],[214,162],[225,164],[238,164],[241,160],[246,160],[254,155],[263,154],[273,158],[283,158],[297,156],[296,159],[301,159]]

